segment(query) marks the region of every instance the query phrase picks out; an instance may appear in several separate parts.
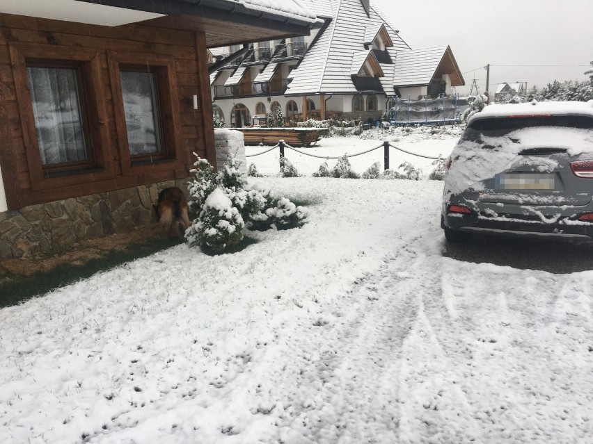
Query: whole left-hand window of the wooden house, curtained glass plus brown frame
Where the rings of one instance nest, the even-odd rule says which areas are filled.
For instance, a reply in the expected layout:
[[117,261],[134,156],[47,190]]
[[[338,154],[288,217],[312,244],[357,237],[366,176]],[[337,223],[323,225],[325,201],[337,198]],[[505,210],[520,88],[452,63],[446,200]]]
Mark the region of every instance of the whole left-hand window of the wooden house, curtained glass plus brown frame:
[[67,190],[113,177],[109,128],[99,123],[108,117],[97,51],[49,51],[44,44],[19,42],[8,45],[8,51],[21,116],[26,161],[22,172],[30,183],[20,202],[34,202],[36,190]]

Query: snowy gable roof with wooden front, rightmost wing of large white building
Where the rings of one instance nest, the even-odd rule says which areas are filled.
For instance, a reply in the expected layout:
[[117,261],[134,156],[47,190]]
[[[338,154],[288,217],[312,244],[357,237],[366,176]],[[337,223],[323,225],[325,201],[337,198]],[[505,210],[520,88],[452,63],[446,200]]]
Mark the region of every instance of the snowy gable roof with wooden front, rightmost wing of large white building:
[[465,84],[452,51],[447,46],[398,52],[393,70],[393,86],[429,85],[439,68],[447,68],[451,72],[452,86]]

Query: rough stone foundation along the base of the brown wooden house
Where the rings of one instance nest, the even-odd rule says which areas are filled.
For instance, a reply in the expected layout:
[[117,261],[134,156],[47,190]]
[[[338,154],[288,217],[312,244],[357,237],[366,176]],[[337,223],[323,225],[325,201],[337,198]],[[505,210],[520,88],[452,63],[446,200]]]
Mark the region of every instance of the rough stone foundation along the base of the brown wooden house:
[[159,191],[177,186],[187,194],[188,180],[153,183],[0,212],[0,260],[55,254],[80,240],[129,233],[148,225],[154,222],[152,203],[157,201]]

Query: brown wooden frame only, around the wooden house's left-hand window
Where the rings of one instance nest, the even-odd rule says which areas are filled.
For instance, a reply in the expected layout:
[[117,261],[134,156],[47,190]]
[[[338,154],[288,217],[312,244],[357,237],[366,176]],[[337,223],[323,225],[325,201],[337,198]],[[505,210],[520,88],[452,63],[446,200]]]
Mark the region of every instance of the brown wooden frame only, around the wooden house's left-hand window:
[[[113,177],[100,52],[95,49],[29,43],[11,43],[9,52],[31,189],[63,188]],[[88,142],[88,161],[42,165],[29,91],[29,66],[76,67],[81,115],[86,121],[83,131]]]

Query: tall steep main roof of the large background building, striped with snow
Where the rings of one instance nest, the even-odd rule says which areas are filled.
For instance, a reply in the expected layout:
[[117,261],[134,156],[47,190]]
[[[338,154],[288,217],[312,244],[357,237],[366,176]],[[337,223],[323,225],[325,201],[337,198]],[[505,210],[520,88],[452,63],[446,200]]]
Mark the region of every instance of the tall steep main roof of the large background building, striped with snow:
[[[329,94],[358,92],[351,79],[351,69],[358,62],[354,54],[365,49],[367,29],[381,28],[385,24],[386,32],[393,41],[393,48],[399,51],[409,50],[409,46],[377,13],[374,4],[370,4],[367,17],[360,0],[327,0],[335,11],[334,19],[322,35],[305,54],[301,64],[291,73],[293,80],[287,95]],[[390,52],[390,51],[388,51]],[[381,64],[381,69],[384,65]],[[391,88],[393,91],[393,88]]]

